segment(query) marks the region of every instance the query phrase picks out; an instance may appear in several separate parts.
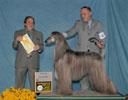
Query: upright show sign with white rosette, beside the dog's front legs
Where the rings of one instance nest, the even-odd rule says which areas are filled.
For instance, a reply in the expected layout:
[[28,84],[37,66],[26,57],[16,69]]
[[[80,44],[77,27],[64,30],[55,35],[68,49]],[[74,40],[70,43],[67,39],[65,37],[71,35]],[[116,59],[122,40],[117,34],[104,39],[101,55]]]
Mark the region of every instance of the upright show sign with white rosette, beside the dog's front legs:
[[35,72],[35,92],[52,91],[52,72]]

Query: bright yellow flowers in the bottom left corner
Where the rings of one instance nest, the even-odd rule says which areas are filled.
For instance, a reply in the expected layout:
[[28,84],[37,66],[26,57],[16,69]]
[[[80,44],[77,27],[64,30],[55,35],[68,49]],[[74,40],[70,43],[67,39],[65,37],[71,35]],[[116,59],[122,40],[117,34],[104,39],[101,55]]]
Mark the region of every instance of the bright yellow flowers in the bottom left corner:
[[10,91],[6,89],[1,93],[0,100],[36,100],[36,94],[30,89],[15,89],[11,87]]

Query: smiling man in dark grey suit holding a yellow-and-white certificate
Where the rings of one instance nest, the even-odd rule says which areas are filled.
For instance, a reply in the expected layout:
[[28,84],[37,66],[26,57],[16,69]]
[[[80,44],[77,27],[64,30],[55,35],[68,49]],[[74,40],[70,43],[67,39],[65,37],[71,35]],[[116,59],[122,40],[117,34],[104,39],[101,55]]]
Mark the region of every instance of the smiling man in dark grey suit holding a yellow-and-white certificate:
[[[35,20],[27,16],[24,20],[25,28],[15,32],[13,48],[17,50],[15,61],[15,88],[24,88],[27,72],[29,72],[30,89],[34,91],[34,73],[38,71],[40,59],[39,53],[43,51],[43,34],[34,29]],[[27,54],[21,40],[23,35],[28,34],[35,44],[34,51]]]

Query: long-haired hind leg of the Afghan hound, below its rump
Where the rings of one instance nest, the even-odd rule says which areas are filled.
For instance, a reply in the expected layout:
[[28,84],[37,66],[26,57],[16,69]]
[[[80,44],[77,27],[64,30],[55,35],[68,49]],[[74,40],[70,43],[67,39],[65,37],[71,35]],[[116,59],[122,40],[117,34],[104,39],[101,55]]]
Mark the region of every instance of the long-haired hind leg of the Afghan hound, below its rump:
[[116,94],[117,89],[107,76],[104,59],[95,60],[94,64],[95,67],[91,68],[89,75],[92,89],[103,93]]

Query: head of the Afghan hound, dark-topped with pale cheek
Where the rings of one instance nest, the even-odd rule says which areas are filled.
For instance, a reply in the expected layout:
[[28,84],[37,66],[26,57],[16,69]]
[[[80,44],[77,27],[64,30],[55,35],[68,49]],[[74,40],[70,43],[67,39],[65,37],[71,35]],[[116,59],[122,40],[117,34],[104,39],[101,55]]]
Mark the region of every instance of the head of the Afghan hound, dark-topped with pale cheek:
[[55,31],[55,32],[52,32],[51,36],[45,40],[45,43],[49,44],[52,42],[59,42],[59,41],[62,41],[63,39],[64,39],[64,36],[62,35],[62,33]]

